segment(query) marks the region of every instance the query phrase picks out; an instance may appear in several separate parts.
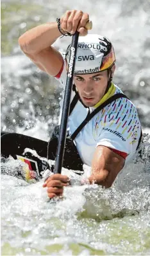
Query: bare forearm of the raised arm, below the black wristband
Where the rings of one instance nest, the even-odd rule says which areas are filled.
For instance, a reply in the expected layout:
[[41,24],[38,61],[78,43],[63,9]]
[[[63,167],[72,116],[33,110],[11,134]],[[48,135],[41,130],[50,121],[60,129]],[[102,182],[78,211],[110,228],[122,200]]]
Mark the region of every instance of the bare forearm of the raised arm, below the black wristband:
[[34,54],[47,49],[62,35],[57,23],[46,23],[27,31],[19,37],[19,44],[24,53]]

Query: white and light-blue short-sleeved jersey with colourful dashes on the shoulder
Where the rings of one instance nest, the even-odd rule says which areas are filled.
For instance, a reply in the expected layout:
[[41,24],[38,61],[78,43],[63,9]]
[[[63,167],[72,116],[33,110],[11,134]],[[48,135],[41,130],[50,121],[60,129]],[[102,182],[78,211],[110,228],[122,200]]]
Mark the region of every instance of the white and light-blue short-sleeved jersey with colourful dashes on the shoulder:
[[[67,78],[67,68],[64,61],[63,71],[60,78],[57,78],[65,88]],[[122,93],[119,87],[112,83],[108,93],[103,96],[99,105],[106,101],[110,96]],[[62,95],[64,96],[64,90]],[[72,91],[71,100],[74,98]],[[62,116],[63,98],[60,101],[60,120]],[[90,107],[90,112],[96,107]],[[81,102],[75,105],[71,115],[69,116],[67,129],[73,134],[79,125],[85,120],[88,108],[84,107]],[[59,122],[60,123],[60,122]],[[103,145],[116,149],[128,154],[126,162],[133,156],[137,149],[138,140],[140,138],[140,121],[135,105],[127,98],[119,98],[104,109],[99,111],[79,132],[74,143],[78,149],[79,156],[83,163],[91,166],[94,151],[98,145]]]

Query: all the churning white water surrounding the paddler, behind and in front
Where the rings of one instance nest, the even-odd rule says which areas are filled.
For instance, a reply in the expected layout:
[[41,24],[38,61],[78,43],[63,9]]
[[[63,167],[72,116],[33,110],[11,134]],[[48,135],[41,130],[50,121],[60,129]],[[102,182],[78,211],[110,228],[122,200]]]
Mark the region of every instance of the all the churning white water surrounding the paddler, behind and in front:
[[[150,127],[149,1],[2,1],[1,129],[48,140],[58,122],[60,89],[17,46],[21,33],[54,21],[68,9],[90,14],[92,33],[114,44],[114,82],[138,107],[144,131]],[[63,38],[55,46],[66,49]],[[1,161],[1,255],[149,255],[150,141],[142,156],[122,171],[112,188],[65,188],[49,201],[43,180],[28,183],[14,175],[19,160]],[[85,175],[90,170],[85,166]],[[79,179],[71,170],[63,174]]]

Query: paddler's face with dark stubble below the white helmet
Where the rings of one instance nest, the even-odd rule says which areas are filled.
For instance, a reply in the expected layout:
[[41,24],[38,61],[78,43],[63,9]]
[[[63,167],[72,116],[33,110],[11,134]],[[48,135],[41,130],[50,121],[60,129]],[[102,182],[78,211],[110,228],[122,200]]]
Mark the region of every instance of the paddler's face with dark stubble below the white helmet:
[[74,84],[87,107],[92,107],[104,96],[108,83],[107,70],[86,75],[74,75]]

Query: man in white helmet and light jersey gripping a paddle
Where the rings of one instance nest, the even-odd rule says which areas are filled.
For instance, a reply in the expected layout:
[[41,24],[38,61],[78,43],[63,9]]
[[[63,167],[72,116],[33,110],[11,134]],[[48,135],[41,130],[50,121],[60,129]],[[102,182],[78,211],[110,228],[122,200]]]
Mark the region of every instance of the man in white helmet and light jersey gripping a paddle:
[[[71,135],[97,107],[113,95],[122,93],[112,83],[115,71],[113,46],[106,37],[87,35],[85,25],[88,21],[88,14],[71,10],[65,12],[57,22],[37,26],[19,38],[22,51],[38,68],[58,79],[64,89],[70,46],[63,57],[52,44],[62,35],[79,32],[81,37],[78,41],[71,95],[71,101],[75,95],[78,100],[72,107],[67,125]],[[92,167],[91,176],[82,183],[111,187],[124,164],[135,153],[140,134],[140,121],[132,102],[123,96],[110,101],[74,137],[73,143],[79,158]],[[62,195],[63,187],[67,185],[67,176],[54,174],[45,181],[43,187],[47,187],[47,195],[53,198]]]

